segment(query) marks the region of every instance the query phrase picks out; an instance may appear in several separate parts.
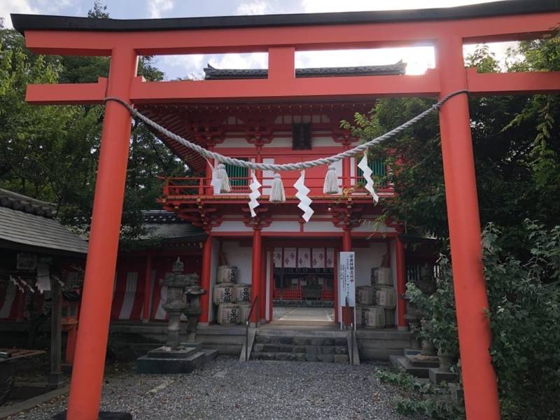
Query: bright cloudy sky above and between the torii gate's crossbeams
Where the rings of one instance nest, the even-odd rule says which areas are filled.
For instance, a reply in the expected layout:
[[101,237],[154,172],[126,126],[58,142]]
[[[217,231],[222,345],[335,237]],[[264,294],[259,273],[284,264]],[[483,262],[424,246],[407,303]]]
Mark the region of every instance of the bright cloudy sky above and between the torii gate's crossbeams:
[[[105,0],[111,18],[148,19],[190,16],[262,15],[275,13],[321,13],[360,10],[395,10],[433,8],[489,3],[494,0]],[[499,0],[498,0],[499,1]],[[504,1],[504,0],[501,0]],[[85,16],[93,0],[0,0],[0,17],[11,27],[10,13]],[[500,59],[511,43],[491,44]],[[465,55],[475,45],[465,47]],[[408,64],[407,73],[421,74],[434,66],[431,47],[384,48],[377,50],[345,50],[328,52],[297,52],[297,67],[358,66],[391,64],[398,60]],[[167,79],[187,76],[202,77],[202,68],[210,62],[218,68],[266,68],[267,55],[181,55],[157,57],[155,64],[165,71]]]

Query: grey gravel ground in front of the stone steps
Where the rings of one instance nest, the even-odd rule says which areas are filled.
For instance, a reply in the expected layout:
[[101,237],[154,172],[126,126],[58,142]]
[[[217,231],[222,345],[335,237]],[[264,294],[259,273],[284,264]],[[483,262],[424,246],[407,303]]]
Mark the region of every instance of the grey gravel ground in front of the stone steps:
[[[192,374],[106,374],[102,409],[132,413],[134,420],[370,419],[405,420],[394,410],[396,392],[379,384],[379,363],[251,361],[219,356]],[[9,417],[48,420],[62,411],[63,396]]]

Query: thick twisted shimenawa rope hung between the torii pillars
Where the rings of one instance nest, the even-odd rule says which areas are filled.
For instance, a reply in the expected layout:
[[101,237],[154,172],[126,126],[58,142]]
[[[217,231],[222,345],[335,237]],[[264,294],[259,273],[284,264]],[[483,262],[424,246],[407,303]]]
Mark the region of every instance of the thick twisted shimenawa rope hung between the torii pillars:
[[183,139],[183,137],[178,136],[177,134],[174,134],[174,133],[170,132],[165,127],[162,127],[158,123],[155,123],[155,121],[151,120],[150,118],[148,118],[146,116],[143,116],[141,113],[139,113],[139,111],[134,109],[128,102],[123,101],[123,99],[120,99],[120,98],[117,98],[117,97],[106,97],[104,99],[104,102],[114,101],[114,102],[118,102],[119,104],[122,104],[123,106],[126,107],[126,109],[128,109],[128,111],[130,111],[132,116],[139,118],[140,120],[144,121],[144,123],[146,123],[150,127],[153,127],[158,132],[160,132],[160,133],[164,134],[165,136],[169,137],[169,139],[173,139],[173,140],[177,141],[178,143],[182,144],[183,146],[186,146],[186,147],[192,149],[193,151],[195,151],[195,152],[199,153],[200,155],[204,156],[204,158],[216,159],[218,162],[227,163],[228,165],[234,165],[234,166],[237,166],[237,167],[244,167],[244,168],[251,168],[251,169],[259,169],[261,171],[295,171],[295,170],[302,170],[302,169],[306,169],[306,168],[312,168],[312,167],[316,167],[316,166],[320,166],[320,165],[329,165],[331,163],[335,163],[339,160],[342,160],[343,158],[351,158],[353,156],[356,156],[359,153],[362,153],[363,151],[365,151],[370,146],[373,146],[374,144],[378,144],[381,141],[384,141],[386,139],[390,139],[391,137],[395,137],[396,135],[398,135],[401,132],[403,132],[404,130],[406,130],[408,127],[411,127],[415,123],[418,123],[419,121],[426,118],[428,115],[430,115],[430,113],[433,113],[435,111],[439,111],[440,107],[445,102],[449,101],[449,99],[451,99],[452,97],[455,97],[456,95],[462,94],[462,93],[467,93],[468,94],[468,90],[466,90],[466,89],[456,90],[455,92],[451,92],[451,93],[447,94],[446,96],[442,97],[442,99],[437,101],[437,103],[433,104],[432,106],[430,106],[430,108],[426,109],[426,111],[423,111],[422,113],[419,113],[417,116],[415,116],[411,120],[408,120],[406,123],[394,128],[390,132],[386,132],[385,134],[383,134],[379,137],[376,137],[375,139],[372,139],[370,141],[366,141],[363,144],[358,144],[358,146],[356,146],[354,148],[351,148],[347,151],[344,151],[342,153],[337,153],[336,155],[332,155],[328,158],[320,158],[320,159],[316,159],[316,160],[307,160],[305,162],[286,163],[286,164],[283,164],[283,165],[276,165],[276,164],[272,164],[272,163],[249,162],[247,160],[239,160],[239,159],[235,159],[235,158],[229,158],[228,156],[221,155],[220,153],[209,151],[209,150],[203,148],[202,146],[199,146],[197,144],[194,144],[191,141],[188,141],[187,139]]

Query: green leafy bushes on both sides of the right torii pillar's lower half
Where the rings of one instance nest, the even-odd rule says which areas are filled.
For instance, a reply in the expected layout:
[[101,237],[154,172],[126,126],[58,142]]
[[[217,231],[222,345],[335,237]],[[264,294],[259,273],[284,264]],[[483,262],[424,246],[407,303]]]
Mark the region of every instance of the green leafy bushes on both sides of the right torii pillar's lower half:
[[[560,226],[547,230],[525,221],[519,230],[526,232],[522,257],[505,251],[508,235],[495,225],[487,225],[482,234],[490,353],[502,418],[560,419]],[[423,337],[454,355],[458,347],[451,278],[449,261],[442,258],[433,295],[423,295],[412,284],[407,292],[426,315]],[[449,411],[425,401],[400,406],[403,413],[423,412],[433,419],[444,418]]]

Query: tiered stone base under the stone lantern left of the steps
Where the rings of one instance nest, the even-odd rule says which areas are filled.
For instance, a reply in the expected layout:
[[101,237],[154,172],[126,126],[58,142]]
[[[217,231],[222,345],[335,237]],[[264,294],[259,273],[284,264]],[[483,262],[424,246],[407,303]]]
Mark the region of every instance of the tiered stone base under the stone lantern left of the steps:
[[217,350],[202,349],[202,343],[181,343],[176,349],[161,346],[137,358],[138,373],[190,373],[214,360]]

